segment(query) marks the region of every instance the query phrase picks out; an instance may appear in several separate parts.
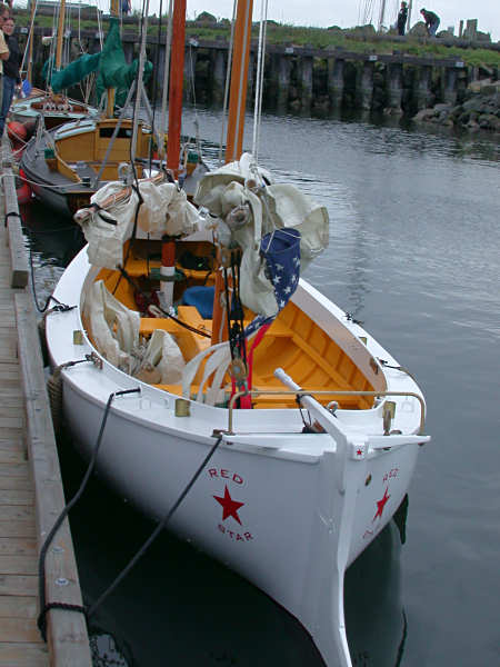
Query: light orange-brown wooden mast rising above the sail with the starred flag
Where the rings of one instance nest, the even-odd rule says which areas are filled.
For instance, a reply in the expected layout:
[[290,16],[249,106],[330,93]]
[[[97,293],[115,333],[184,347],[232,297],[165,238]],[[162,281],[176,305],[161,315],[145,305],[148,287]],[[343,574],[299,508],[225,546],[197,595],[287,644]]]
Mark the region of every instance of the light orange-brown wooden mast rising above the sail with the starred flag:
[[241,157],[247,107],[248,63],[252,32],[253,0],[238,0],[229,96],[226,162]]

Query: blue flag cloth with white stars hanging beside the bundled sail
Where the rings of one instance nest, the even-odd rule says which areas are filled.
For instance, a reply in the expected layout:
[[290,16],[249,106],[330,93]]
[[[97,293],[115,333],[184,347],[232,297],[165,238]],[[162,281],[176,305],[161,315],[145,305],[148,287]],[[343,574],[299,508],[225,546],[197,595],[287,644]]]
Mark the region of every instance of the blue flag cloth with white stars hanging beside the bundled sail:
[[270,325],[296,291],[300,278],[300,231],[281,227],[267,233],[260,241],[260,255],[266,262],[266,277],[274,290],[278,311],[271,317],[258,315],[246,328],[246,336],[254,334],[262,325]]

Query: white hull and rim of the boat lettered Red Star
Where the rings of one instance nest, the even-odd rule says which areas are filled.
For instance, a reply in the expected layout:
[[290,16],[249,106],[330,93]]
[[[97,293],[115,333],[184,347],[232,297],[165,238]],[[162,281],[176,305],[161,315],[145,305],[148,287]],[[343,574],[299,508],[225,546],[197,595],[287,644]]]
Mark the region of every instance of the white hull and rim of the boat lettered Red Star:
[[[84,250],[64,272],[54,296],[79,305],[89,265]],[[370,355],[396,365],[358,325],[301,281],[293,301],[344,349],[369,368]],[[59,366],[93,351],[73,345],[83,330],[80,310],[47,318],[52,362]],[[367,337],[367,347],[359,337]],[[394,369],[380,369],[388,391],[420,391]],[[144,512],[167,515],[214,444],[213,429],[228,428],[228,410],[191,402],[176,417],[176,398],[124,375],[103,360],[63,371],[64,411],[83,455],[96,445],[111,392],[117,397],[106,425],[98,468],[122,496]],[[408,490],[419,444],[420,404],[392,397],[393,429],[382,436],[381,406],[370,410],[311,408],[328,432],[301,434],[299,410],[237,410],[233,436],[180,505],[171,528],[240,573],[294,615],[309,630],[328,665],[351,665],[343,627],[343,573],[374,539]],[[387,449],[382,449],[381,446]],[[219,498],[219,499],[218,499]],[[230,505],[234,501],[236,505]],[[224,512],[227,516],[224,516]]]

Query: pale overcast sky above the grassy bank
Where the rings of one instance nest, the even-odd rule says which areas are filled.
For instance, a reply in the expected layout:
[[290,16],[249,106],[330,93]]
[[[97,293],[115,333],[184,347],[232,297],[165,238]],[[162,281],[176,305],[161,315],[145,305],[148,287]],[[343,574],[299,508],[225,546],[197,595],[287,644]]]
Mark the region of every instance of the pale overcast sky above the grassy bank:
[[[382,0],[268,0],[268,19],[294,26],[314,26],[326,28],[357,26],[368,8],[372,8],[373,24],[378,24]],[[102,2],[102,0],[101,0]],[[429,4],[427,4],[429,2]],[[169,0],[163,0],[163,11]],[[139,9],[142,0],[132,0],[132,7]],[[386,24],[396,19],[399,0],[386,0]],[[414,0],[412,21],[420,19],[420,9],[426,7],[441,19],[441,28],[454,27],[458,34],[460,19],[479,19],[479,30],[490,32],[493,41],[500,40],[499,0]],[[150,12],[158,12],[160,0],[150,0]],[[253,0],[254,20],[260,18],[261,0]],[[188,18],[193,19],[202,11],[209,11],[218,18],[231,18],[232,0],[188,0]]]

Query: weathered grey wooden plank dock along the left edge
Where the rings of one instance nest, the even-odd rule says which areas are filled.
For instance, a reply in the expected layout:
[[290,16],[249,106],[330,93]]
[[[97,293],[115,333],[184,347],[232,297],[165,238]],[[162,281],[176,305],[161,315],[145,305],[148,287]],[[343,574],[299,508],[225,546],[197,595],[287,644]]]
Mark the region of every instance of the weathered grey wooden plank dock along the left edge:
[[[66,501],[10,149],[0,148],[0,666],[90,667],[81,613],[50,610],[47,644],[37,627],[38,556]],[[44,573],[47,603],[82,605],[68,520]]]

